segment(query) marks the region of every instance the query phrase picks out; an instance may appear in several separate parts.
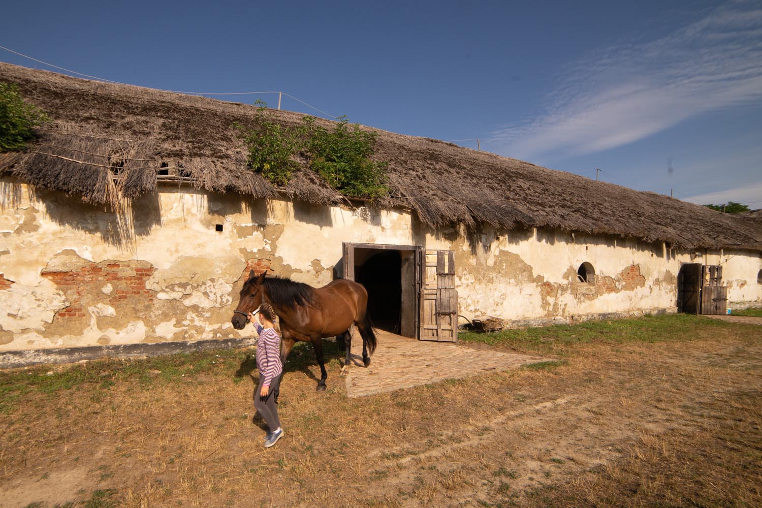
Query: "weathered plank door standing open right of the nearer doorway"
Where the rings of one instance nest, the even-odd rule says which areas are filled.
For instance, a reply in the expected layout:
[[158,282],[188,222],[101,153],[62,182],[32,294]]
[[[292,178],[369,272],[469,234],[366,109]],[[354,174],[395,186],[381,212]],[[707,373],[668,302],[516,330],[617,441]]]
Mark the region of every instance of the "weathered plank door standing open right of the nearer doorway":
[[418,338],[458,340],[458,292],[453,251],[421,251],[421,328]]

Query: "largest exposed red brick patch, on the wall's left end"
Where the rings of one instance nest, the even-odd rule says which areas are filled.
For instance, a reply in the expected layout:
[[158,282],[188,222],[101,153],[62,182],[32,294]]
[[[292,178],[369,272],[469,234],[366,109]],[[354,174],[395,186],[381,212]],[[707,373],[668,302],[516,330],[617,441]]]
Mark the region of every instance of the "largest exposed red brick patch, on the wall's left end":
[[[113,263],[104,261],[99,264],[88,264],[78,270],[45,271],[43,277],[50,279],[69,300],[69,307],[60,310],[56,316],[62,318],[85,318],[87,312],[83,299],[88,296],[98,296],[98,301],[107,302],[114,307],[117,314],[120,306],[129,306],[126,312],[140,314],[147,311],[153,304],[155,291],[146,289],[146,280],[156,271],[146,261],[129,260]],[[101,288],[105,284],[113,288],[109,295],[104,295]],[[102,298],[101,298],[102,296]],[[128,299],[132,299],[127,302]]]

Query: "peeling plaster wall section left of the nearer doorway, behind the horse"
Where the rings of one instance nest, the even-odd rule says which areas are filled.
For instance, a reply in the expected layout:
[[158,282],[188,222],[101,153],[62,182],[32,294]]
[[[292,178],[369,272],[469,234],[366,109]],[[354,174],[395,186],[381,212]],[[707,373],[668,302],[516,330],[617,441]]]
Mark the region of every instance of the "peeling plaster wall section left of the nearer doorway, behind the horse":
[[8,179],[0,196],[0,351],[247,337],[249,270],[322,286],[342,241],[413,243],[408,212],[167,188],[120,219]]

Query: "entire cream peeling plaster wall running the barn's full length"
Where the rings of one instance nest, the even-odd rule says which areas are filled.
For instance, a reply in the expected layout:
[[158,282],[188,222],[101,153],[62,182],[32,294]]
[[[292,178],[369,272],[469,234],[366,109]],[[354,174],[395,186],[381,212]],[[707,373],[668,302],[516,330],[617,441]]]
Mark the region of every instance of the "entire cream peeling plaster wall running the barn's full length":
[[[246,337],[230,318],[249,270],[322,286],[344,241],[453,249],[459,313],[469,318],[674,311],[680,263],[690,262],[631,238],[434,232],[405,210],[252,203],[187,188],[145,196],[124,216],[7,179],[0,200],[0,351]],[[722,261],[729,299],[762,303],[758,253],[704,255]],[[584,261],[595,283],[578,282]]]

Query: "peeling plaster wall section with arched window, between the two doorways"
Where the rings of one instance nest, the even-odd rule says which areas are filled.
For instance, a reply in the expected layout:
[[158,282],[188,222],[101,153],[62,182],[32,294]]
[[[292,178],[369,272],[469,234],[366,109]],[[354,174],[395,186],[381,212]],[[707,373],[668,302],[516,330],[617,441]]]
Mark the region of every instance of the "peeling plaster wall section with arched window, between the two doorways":
[[[524,320],[607,313],[674,312],[679,266],[663,244],[548,229],[483,228],[470,241],[427,234],[428,248],[453,248],[459,311]],[[594,283],[578,280],[584,262]],[[467,288],[467,289],[466,289]]]

